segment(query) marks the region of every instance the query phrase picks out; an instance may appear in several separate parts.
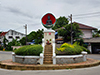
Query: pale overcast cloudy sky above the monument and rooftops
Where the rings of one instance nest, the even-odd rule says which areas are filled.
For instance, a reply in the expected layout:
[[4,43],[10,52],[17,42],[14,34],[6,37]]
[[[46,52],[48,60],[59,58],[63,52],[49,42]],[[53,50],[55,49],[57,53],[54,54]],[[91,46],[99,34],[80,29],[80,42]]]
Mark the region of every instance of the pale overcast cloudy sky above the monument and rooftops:
[[41,18],[52,13],[100,29],[100,0],[0,0],[0,31],[10,29],[28,34],[44,29]]

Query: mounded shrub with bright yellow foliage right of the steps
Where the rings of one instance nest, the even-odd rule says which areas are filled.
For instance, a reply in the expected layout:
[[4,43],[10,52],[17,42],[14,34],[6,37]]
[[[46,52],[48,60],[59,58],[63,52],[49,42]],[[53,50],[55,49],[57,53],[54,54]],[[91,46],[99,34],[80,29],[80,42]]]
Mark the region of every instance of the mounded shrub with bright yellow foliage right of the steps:
[[78,44],[68,44],[68,43],[64,43],[61,45],[60,48],[57,48],[56,53],[57,54],[66,54],[66,55],[76,55],[76,54],[81,54],[81,52],[83,51],[83,49],[81,48],[81,46],[79,46]]

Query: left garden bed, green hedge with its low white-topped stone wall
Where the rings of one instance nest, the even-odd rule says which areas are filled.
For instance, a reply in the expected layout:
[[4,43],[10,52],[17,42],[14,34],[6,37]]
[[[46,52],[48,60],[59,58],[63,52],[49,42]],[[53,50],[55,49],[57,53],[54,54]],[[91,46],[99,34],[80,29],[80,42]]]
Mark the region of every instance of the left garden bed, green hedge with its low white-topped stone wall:
[[12,53],[13,62],[21,64],[37,64],[42,53],[41,45],[27,45],[14,50]]

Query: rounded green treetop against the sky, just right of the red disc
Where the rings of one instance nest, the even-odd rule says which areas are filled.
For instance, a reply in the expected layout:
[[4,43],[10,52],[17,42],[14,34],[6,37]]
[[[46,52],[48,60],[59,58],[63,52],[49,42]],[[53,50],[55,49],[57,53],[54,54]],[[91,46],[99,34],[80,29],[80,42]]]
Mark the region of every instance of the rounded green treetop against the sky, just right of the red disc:
[[63,17],[59,17],[58,19],[57,19],[57,21],[56,21],[56,24],[55,24],[55,26],[52,28],[52,29],[58,29],[58,28],[61,28],[61,27],[63,27],[63,26],[65,26],[65,25],[67,25],[68,24],[68,18],[66,18],[65,16],[63,16]]

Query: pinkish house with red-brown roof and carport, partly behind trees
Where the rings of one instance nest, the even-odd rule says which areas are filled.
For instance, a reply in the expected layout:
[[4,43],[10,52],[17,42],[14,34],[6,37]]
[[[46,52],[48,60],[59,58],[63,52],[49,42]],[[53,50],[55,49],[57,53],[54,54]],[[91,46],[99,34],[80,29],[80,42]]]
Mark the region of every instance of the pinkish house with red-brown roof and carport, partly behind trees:
[[[88,50],[90,50],[91,53],[97,54],[100,53],[100,37],[93,38],[92,37],[92,31],[96,30],[97,28],[91,27],[85,24],[81,24],[78,22],[74,22],[79,25],[79,29],[83,32],[83,36],[81,36],[84,40],[84,43],[88,45]],[[63,29],[64,27],[62,27]],[[59,29],[57,29],[59,30]],[[56,30],[56,31],[57,31]],[[58,42],[62,41],[62,37],[58,36],[58,39],[56,39]],[[60,39],[60,40],[59,40]]]

